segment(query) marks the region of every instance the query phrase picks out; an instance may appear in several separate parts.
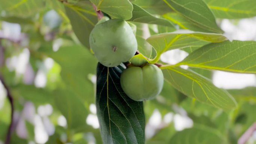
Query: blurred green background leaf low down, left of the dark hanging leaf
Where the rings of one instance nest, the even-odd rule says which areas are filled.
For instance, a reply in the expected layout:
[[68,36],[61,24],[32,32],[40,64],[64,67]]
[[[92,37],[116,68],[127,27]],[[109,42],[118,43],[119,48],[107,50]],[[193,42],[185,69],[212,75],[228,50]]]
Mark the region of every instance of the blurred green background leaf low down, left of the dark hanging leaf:
[[56,90],[55,104],[67,120],[68,129],[79,129],[85,126],[88,114],[85,106],[77,96],[68,90]]

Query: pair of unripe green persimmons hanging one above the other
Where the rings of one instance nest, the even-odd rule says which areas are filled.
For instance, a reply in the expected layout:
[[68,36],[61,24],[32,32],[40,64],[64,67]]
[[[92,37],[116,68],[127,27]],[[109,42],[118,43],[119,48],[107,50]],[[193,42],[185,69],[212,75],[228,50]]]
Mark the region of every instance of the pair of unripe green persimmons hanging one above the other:
[[[98,61],[115,67],[129,61],[137,51],[130,25],[122,19],[101,19],[90,34],[90,46]],[[159,95],[164,84],[162,71],[154,64],[132,65],[120,77],[121,87],[131,99],[143,101]]]

